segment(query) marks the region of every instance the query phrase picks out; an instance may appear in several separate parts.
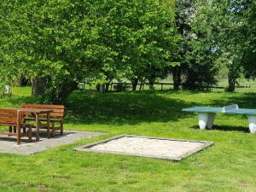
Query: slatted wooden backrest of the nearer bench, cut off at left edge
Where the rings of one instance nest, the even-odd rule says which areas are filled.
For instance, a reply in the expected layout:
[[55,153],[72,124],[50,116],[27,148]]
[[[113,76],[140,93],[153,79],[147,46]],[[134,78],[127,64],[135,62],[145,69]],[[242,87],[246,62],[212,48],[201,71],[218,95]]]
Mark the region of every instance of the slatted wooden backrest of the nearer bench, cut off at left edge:
[[20,111],[16,109],[0,109],[0,125],[18,125]]

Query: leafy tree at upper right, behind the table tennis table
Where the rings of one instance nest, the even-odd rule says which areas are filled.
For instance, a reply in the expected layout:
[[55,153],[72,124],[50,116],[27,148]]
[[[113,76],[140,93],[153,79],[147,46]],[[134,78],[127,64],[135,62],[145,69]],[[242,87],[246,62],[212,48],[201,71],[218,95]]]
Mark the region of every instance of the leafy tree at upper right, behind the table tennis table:
[[230,69],[227,90],[233,91],[242,71],[255,74],[255,1],[204,0],[196,8],[195,31],[206,34],[205,44]]

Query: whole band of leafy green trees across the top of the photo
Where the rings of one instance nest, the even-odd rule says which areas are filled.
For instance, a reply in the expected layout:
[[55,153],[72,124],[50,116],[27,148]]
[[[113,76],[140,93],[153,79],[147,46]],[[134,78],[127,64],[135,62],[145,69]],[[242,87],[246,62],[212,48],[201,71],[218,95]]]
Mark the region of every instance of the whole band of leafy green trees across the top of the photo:
[[229,69],[229,87],[254,78],[253,0],[2,0],[0,88],[32,84],[44,102],[64,102],[87,79],[132,89],[172,74],[173,89],[201,90]]

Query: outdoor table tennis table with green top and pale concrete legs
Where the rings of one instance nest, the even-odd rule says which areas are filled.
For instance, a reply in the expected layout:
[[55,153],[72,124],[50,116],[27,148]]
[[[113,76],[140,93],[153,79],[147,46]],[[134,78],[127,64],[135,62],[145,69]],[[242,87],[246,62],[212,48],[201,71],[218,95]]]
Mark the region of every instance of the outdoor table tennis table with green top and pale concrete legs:
[[212,129],[216,113],[244,114],[247,115],[249,130],[256,133],[256,109],[239,108],[237,104],[224,106],[223,108],[193,107],[183,108],[183,112],[196,112],[198,125],[201,130]]

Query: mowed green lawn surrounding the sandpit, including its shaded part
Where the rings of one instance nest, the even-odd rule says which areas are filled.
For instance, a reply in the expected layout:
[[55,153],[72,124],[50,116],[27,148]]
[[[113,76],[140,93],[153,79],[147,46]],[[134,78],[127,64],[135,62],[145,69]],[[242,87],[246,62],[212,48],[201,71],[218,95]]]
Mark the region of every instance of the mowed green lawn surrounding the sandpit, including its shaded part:
[[[30,92],[15,88],[14,96],[0,100],[0,108],[39,102]],[[215,129],[200,131],[195,114],[181,113],[198,105],[256,108],[255,96],[244,91],[75,91],[66,105],[65,129],[107,134],[30,156],[0,154],[0,191],[256,191],[256,135],[248,133],[246,117],[218,114]],[[73,150],[119,134],[215,144],[180,162]]]

